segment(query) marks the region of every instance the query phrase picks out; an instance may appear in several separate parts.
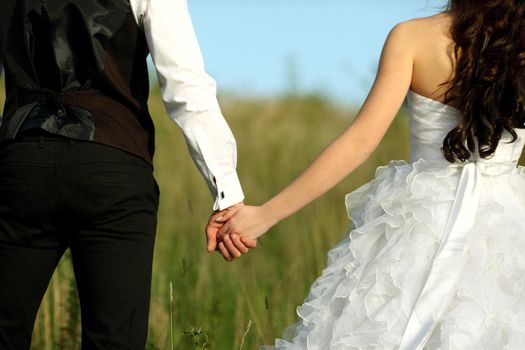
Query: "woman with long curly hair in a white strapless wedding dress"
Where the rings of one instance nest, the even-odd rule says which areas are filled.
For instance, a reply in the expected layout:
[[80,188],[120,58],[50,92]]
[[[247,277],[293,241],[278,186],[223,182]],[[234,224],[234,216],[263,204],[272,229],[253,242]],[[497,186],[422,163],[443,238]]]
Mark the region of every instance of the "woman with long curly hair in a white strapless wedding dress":
[[353,228],[278,349],[525,349],[525,2],[397,25],[352,125],[281,193],[211,217],[231,260],[376,148],[408,95],[412,162],[346,197]]

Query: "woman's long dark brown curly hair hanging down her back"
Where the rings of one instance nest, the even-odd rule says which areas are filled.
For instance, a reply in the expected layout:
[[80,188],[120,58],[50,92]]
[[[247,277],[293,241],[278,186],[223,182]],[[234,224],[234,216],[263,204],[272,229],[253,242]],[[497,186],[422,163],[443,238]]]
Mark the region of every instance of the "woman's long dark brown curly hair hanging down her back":
[[516,141],[525,127],[525,1],[450,0],[455,42],[454,77],[447,103],[461,111],[459,125],[443,141],[445,158],[468,160],[476,151],[489,158],[504,130]]

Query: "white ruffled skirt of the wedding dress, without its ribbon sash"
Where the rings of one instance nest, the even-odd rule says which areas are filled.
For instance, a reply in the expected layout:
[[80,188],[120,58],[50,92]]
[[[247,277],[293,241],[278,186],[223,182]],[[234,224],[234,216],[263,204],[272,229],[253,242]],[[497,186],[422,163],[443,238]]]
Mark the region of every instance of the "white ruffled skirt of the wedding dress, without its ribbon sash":
[[[461,167],[380,167],[346,197],[353,228],[276,349],[398,349],[429,278]],[[525,349],[525,168],[482,174],[459,282],[421,349]],[[412,316],[413,317],[413,316]],[[406,341],[406,339],[404,339]],[[274,347],[263,347],[273,349]]]

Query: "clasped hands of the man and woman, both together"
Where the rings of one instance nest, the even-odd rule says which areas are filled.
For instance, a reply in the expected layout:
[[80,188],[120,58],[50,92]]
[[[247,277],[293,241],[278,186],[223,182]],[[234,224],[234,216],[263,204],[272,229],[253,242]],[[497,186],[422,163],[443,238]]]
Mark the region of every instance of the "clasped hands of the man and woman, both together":
[[257,239],[271,227],[263,207],[238,203],[210,216],[206,225],[208,252],[219,251],[233,261],[257,246]]

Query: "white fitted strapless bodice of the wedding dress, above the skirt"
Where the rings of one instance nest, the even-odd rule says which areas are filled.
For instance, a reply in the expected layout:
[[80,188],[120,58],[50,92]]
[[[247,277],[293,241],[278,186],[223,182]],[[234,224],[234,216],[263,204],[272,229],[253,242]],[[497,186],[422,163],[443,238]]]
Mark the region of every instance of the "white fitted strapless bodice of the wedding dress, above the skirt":
[[[408,93],[410,144],[412,161],[424,159],[431,162],[446,162],[441,148],[447,134],[459,123],[459,110],[421,96],[410,90]],[[505,131],[498,148],[490,159],[480,159],[476,152],[472,161],[481,163],[517,163],[525,145],[525,129],[516,129],[518,139],[512,140],[512,135]]]

